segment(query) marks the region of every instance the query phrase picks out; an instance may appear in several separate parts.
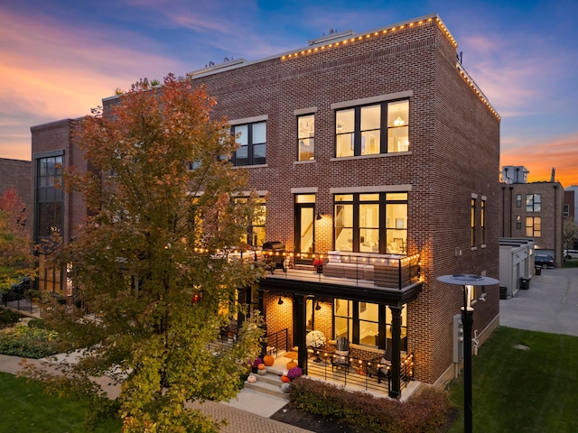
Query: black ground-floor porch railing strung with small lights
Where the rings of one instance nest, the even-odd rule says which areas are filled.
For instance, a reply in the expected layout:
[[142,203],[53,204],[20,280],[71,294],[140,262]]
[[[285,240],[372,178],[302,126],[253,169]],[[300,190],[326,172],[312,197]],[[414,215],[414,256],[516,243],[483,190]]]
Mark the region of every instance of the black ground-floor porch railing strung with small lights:
[[[381,364],[380,359],[361,359],[340,356],[331,352],[310,350],[307,374],[328,382],[356,387],[364,391],[384,392],[391,390],[391,365]],[[400,364],[400,388],[414,380],[415,358],[407,355]]]

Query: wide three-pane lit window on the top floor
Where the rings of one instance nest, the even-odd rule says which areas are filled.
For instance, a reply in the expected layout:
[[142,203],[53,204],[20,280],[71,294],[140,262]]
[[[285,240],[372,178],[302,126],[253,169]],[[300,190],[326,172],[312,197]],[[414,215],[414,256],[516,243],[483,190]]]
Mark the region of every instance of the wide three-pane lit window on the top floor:
[[409,150],[409,101],[356,106],[335,113],[335,156]]

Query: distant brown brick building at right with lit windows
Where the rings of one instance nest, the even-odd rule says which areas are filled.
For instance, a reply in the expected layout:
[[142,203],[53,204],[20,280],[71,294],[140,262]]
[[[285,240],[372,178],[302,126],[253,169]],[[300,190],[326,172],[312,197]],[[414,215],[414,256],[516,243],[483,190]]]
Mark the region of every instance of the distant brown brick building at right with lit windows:
[[528,173],[521,166],[502,168],[501,236],[532,238],[536,253],[551,254],[562,266],[564,188],[554,179],[528,182]]

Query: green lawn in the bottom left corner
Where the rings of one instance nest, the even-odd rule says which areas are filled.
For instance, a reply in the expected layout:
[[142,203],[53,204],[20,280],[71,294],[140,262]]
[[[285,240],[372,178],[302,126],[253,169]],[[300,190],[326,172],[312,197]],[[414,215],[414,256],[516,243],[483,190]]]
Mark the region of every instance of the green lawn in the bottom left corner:
[[[85,433],[86,401],[43,392],[40,382],[0,373],[0,433]],[[120,431],[120,420],[98,426],[98,433]]]

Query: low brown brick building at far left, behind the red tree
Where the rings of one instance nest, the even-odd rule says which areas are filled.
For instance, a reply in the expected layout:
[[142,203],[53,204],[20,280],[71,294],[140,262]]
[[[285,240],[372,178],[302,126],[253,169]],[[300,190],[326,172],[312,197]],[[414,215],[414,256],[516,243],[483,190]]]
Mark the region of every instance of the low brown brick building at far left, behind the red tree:
[[[27,214],[27,226],[32,227],[33,189],[32,162],[0,158],[0,195],[13,189],[23,201],[23,212]],[[32,233],[32,232],[31,232]]]

